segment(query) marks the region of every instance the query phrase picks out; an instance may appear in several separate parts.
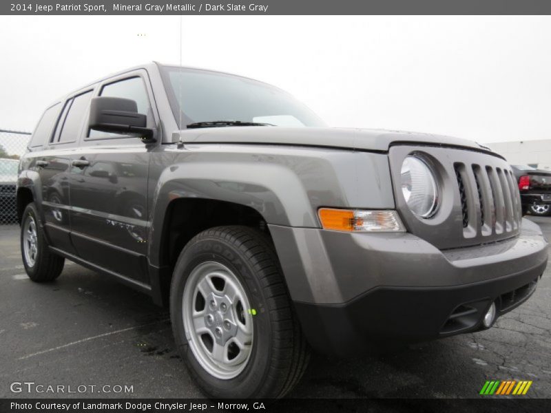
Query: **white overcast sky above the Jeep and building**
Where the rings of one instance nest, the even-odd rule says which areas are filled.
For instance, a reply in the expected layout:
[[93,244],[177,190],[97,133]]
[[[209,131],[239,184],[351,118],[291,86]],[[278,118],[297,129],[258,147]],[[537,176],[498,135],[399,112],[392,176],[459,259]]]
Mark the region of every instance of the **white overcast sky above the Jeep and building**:
[[[138,36],[144,34],[144,36]],[[0,129],[132,65],[179,63],[180,17],[0,17]],[[286,89],[335,127],[551,138],[551,17],[183,17],[183,65]]]

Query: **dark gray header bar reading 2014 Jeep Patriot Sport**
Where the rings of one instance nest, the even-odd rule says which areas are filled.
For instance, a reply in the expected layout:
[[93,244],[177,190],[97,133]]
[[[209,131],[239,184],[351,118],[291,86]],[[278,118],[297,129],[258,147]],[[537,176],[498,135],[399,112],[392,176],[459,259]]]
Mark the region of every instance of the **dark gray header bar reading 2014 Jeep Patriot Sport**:
[[34,0],[0,1],[0,14],[347,15],[551,14],[547,0]]

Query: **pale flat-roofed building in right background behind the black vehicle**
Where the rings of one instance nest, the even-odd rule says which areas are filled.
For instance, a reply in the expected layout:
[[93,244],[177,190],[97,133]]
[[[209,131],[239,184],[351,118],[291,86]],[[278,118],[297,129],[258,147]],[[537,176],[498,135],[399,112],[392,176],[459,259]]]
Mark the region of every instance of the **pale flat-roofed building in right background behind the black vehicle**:
[[530,165],[551,171],[551,139],[486,143],[511,165]]

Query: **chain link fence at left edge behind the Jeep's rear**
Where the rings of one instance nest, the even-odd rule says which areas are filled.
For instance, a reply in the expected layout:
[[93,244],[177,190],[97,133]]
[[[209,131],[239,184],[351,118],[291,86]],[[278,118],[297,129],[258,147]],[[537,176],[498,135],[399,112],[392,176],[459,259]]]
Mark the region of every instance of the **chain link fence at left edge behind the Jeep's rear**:
[[0,224],[17,223],[15,184],[19,158],[27,150],[29,132],[0,129]]

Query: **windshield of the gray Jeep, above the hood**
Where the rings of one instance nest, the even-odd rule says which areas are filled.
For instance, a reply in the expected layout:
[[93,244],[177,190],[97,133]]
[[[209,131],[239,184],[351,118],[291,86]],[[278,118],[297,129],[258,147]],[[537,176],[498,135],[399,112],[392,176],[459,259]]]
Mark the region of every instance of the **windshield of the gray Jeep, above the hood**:
[[325,126],[293,96],[266,83],[183,67],[162,66],[160,70],[180,129],[190,124],[222,121],[287,127]]

